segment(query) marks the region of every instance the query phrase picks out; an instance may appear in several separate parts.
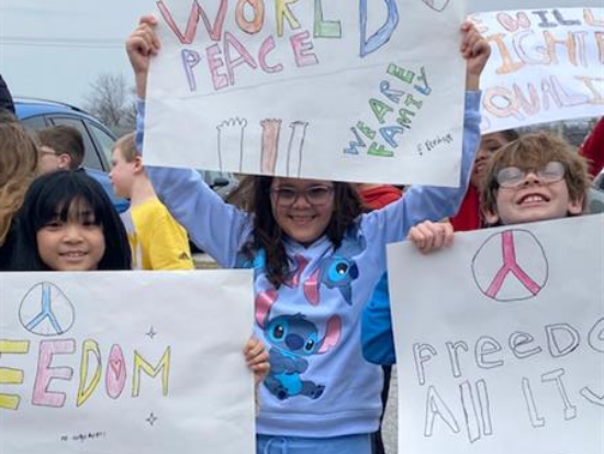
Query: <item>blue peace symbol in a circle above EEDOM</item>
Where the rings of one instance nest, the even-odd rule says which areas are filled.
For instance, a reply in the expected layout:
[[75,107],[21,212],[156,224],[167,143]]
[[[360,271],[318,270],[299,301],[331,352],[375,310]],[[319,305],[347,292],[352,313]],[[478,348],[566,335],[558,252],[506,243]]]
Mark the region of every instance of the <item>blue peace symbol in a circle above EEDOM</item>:
[[19,308],[19,321],[32,334],[56,336],[74,325],[76,314],[63,290],[51,283],[41,283],[27,291]]

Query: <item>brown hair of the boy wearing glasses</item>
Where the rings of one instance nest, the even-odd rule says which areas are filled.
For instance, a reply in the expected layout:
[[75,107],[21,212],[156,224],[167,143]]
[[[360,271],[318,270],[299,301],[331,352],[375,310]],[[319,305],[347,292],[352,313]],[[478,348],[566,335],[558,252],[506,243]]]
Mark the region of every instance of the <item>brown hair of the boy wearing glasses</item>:
[[582,198],[584,210],[588,202],[586,192],[591,185],[585,159],[573,153],[570,144],[558,135],[539,132],[524,134],[491,156],[480,188],[482,211],[497,212],[497,174],[502,168],[514,166],[526,170],[538,169],[552,160],[564,166],[564,180],[570,200],[577,202]]

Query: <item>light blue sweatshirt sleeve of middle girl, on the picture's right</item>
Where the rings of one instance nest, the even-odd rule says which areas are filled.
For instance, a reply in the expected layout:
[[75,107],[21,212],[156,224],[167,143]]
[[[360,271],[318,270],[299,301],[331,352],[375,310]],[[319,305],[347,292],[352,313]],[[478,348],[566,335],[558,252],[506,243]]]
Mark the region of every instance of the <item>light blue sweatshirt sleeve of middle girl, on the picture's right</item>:
[[459,187],[412,186],[402,199],[363,218],[362,229],[378,234],[383,244],[402,241],[422,221],[439,221],[457,213],[472,174],[480,143],[480,91],[468,91],[463,113],[463,141]]

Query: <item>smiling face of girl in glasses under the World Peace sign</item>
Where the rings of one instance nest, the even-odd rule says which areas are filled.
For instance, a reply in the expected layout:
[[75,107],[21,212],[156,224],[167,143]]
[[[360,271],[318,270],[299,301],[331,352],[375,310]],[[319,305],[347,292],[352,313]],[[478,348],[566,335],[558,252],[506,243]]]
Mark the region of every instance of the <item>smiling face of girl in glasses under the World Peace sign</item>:
[[327,229],[334,212],[331,182],[275,178],[270,186],[272,215],[292,240],[307,246]]

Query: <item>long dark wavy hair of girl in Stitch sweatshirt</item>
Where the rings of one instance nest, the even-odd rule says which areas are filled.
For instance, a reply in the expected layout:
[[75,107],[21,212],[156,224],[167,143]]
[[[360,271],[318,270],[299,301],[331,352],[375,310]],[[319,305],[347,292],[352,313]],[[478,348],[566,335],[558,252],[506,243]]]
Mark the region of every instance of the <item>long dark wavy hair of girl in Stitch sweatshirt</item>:
[[[254,229],[253,239],[244,245],[243,253],[251,257],[255,251],[264,251],[267,277],[276,288],[279,288],[286,281],[290,263],[283,244],[286,233],[272,215],[272,177],[247,178],[249,180],[245,184],[246,191],[242,192],[245,200],[239,200],[239,206],[254,214]],[[347,229],[367,209],[353,185],[334,181],[334,212],[325,234],[335,248],[340,246]]]

